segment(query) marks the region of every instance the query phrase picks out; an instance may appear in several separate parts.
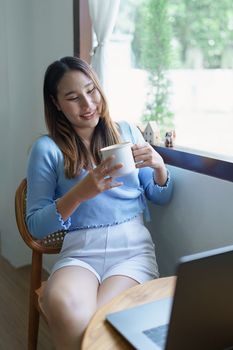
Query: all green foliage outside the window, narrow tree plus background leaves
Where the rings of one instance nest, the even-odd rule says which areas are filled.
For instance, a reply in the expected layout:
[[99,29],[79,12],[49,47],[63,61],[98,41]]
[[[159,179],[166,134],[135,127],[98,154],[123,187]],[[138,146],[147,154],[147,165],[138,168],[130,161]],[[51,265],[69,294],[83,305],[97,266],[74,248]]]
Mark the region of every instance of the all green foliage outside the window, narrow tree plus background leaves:
[[232,0],[144,0],[135,16],[134,65],[149,73],[144,121],[173,125],[169,69],[233,68]]

